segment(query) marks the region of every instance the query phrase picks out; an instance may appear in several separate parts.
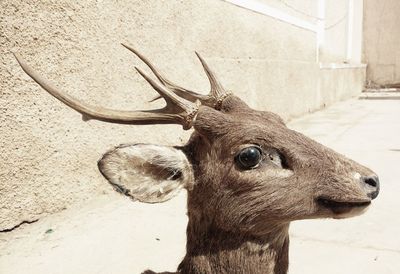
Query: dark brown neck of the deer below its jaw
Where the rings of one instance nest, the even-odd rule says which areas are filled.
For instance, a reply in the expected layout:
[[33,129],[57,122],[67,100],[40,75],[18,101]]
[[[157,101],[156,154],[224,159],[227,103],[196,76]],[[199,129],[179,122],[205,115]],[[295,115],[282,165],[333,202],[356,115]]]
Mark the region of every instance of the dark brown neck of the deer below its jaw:
[[263,237],[200,227],[189,219],[187,253],[179,273],[287,273],[289,224]]

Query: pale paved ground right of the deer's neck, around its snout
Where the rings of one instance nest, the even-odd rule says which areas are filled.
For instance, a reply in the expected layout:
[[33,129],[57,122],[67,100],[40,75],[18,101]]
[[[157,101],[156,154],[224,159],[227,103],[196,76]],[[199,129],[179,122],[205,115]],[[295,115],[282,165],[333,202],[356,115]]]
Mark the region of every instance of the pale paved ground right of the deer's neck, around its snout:
[[400,273],[400,100],[355,100],[291,127],[365,164],[381,193],[362,216],[291,226],[290,273]]

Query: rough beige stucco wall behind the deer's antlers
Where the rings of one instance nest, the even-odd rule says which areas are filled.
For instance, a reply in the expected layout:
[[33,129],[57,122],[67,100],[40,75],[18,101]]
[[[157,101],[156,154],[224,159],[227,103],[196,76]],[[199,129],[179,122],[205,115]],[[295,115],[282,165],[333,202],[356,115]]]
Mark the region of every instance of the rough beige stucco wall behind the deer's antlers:
[[[304,2],[315,14],[315,5]],[[12,52],[73,96],[131,110],[159,103],[147,103],[155,92],[133,68],[145,66],[120,42],[170,79],[206,92],[197,50],[227,89],[254,108],[289,118],[352,96],[347,87],[359,91],[348,70],[320,71],[315,39],[313,32],[216,0],[0,1],[0,230],[112,191],[96,165],[112,146],[182,144],[190,134],[174,125],[83,122],[26,76]],[[338,79],[346,81],[339,88]]]

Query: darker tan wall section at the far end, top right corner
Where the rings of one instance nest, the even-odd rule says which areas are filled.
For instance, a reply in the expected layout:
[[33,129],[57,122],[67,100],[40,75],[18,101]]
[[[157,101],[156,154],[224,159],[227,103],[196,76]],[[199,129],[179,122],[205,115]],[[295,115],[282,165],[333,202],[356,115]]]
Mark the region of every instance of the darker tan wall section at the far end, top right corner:
[[367,84],[400,83],[400,1],[364,1]]

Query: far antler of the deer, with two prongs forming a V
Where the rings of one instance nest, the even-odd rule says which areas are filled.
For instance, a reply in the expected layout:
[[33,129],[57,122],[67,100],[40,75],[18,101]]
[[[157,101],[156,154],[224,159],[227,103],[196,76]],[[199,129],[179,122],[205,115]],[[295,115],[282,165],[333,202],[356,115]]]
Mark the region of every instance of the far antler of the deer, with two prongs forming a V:
[[[185,98],[191,102],[195,102],[199,100],[202,105],[206,105],[215,109],[220,109],[221,108],[221,103],[222,101],[231,93],[225,91],[225,89],[222,87],[220,82],[218,81],[217,77],[215,74],[212,72],[212,70],[208,67],[207,63],[204,61],[204,59],[200,56],[198,52],[195,52],[197,57],[199,58],[204,71],[206,72],[206,75],[208,77],[208,80],[210,81],[210,92],[208,95],[203,95],[199,94],[197,92],[185,89],[181,86],[178,86],[177,84],[174,84],[170,80],[166,79],[159,71],[158,69],[142,54],[140,54],[137,50],[134,48],[127,46],[125,44],[122,44],[125,48],[133,52],[137,57],[139,57],[154,73],[154,75],[160,80],[160,82],[167,87],[168,89],[171,89],[174,93],[176,93],[178,96]],[[155,100],[159,99],[161,97],[155,98]]]

